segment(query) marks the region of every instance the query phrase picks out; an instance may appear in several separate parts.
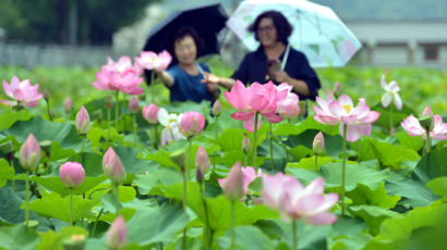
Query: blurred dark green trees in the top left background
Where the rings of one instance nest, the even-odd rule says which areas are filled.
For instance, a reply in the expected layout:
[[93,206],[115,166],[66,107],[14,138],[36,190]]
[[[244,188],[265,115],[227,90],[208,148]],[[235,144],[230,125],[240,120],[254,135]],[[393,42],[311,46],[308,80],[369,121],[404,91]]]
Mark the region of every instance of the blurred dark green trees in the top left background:
[[110,45],[112,34],[143,17],[157,0],[2,0],[0,27],[8,39]]

